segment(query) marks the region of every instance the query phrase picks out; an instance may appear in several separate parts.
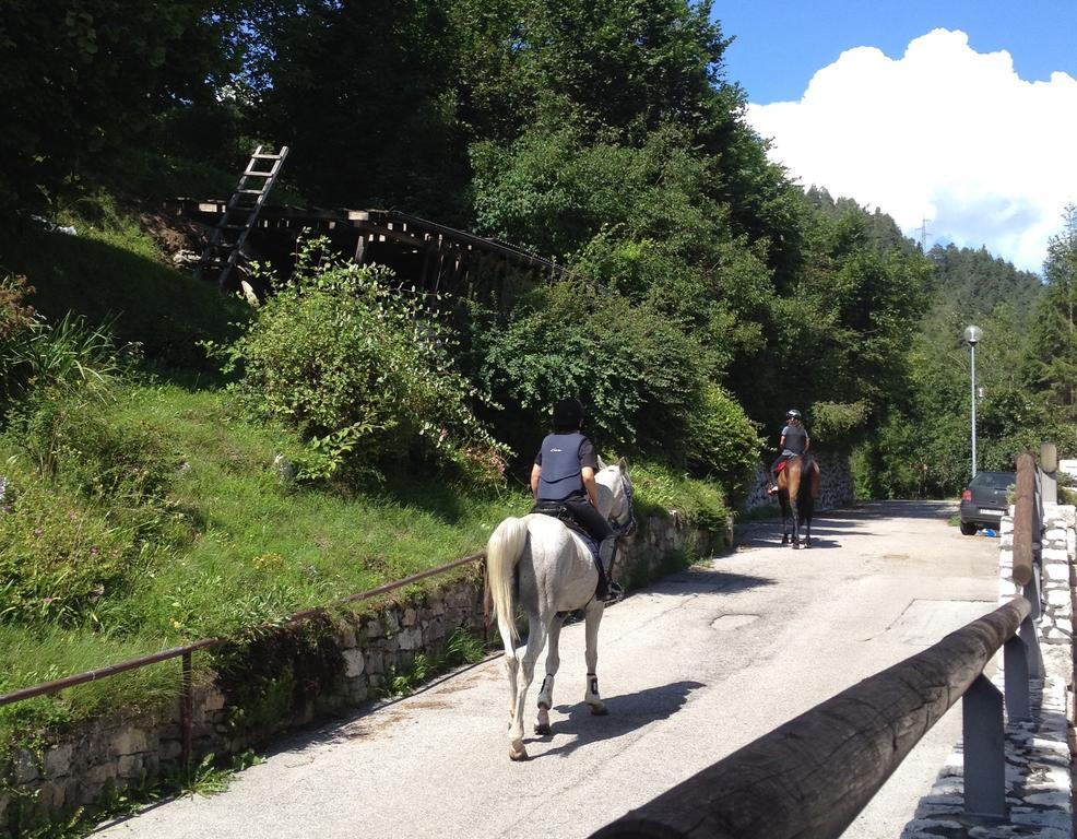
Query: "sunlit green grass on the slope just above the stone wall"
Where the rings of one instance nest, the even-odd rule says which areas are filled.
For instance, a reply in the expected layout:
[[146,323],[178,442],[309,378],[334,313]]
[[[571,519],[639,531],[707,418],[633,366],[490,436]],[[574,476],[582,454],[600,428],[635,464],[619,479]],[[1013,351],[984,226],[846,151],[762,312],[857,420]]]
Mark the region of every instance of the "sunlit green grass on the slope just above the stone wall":
[[[139,417],[174,448],[184,465],[167,503],[184,517],[186,539],[158,551],[130,590],[105,599],[97,631],[0,627],[3,690],[330,604],[474,553],[500,519],[529,506],[522,492],[469,493],[423,476],[403,483],[403,499],[388,489],[344,497],[289,488],[273,459],[297,441],[234,413],[223,391],[129,386],[108,410],[117,423]],[[168,669],[138,671],[138,689],[123,678],[74,688],[38,711],[78,719],[121,698],[149,701],[158,693],[154,674]],[[166,693],[175,686],[175,674],[159,678]],[[48,702],[58,707],[45,711]]]

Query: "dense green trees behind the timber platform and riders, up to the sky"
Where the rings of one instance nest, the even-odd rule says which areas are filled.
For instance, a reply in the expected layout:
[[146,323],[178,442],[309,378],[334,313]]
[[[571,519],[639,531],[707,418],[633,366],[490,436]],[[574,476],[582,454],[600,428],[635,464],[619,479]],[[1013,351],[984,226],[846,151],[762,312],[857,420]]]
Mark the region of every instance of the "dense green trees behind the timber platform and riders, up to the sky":
[[[759,453],[744,415],[771,445],[795,405],[818,448],[868,447],[883,477],[865,492],[952,493],[970,319],[986,464],[1062,434],[1063,363],[1023,341],[1067,335],[1028,320],[1039,280],[983,251],[922,255],[885,212],[769,163],[709,3],[4,5],[0,194],[22,225],[100,189],[220,193],[267,142],[293,150],[286,188],[310,204],[399,209],[568,265],[579,285],[452,324],[454,370],[488,397],[469,411],[522,461],[549,402],[578,393],[600,444],[735,495]],[[1063,222],[1051,289],[1073,271]]]

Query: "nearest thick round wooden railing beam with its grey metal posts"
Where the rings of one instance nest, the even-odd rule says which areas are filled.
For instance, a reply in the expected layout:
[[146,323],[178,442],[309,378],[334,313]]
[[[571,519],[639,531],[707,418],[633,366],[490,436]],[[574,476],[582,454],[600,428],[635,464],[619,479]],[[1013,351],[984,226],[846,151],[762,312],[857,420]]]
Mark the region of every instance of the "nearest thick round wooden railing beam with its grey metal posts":
[[934,647],[864,680],[613,822],[592,839],[838,837],[963,697],[964,805],[1006,813],[1003,700],[983,670],[1005,648],[1010,720],[1029,718],[1015,598]]

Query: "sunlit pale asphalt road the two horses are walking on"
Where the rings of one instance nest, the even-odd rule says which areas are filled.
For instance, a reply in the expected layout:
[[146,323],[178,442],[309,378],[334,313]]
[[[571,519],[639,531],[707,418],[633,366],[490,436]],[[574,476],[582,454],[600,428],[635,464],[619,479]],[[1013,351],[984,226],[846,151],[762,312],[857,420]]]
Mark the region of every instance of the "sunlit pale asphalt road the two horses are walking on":
[[[528,737],[526,763],[508,759],[495,658],[293,738],[222,794],[96,835],[587,837],[994,608],[998,543],[948,527],[954,509],[892,501],[824,513],[816,546],[800,552],[779,545],[777,522],[751,524],[736,553],[634,592],[606,611],[599,636],[608,717],[581,702],[583,627],[566,627],[554,733]],[[844,836],[900,836],[959,736],[957,706]]]

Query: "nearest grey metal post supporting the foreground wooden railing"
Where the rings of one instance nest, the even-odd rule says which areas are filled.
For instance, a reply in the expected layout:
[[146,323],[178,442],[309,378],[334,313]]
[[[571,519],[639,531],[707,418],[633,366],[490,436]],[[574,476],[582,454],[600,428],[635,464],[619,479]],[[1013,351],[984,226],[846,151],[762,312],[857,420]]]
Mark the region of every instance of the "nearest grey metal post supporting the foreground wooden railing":
[[964,736],[964,812],[1006,817],[1006,749],[1003,696],[982,673],[961,704]]

